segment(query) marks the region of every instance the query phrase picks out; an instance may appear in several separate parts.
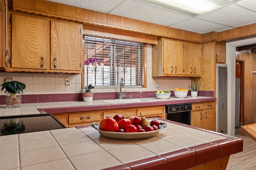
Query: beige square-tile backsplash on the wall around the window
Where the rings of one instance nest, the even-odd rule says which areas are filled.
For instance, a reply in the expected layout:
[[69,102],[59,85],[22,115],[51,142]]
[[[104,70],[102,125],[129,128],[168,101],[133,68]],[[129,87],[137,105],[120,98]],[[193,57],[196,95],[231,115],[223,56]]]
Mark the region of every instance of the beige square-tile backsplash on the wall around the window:
[[[23,91],[25,95],[30,94],[75,94],[82,93],[81,74],[46,74],[46,73],[24,73],[24,72],[0,72],[0,84],[7,78],[26,84]],[[65,86],[65,78],[69,78],[70,86]],[[156,88],[156,83],[160,85]],[[147,87],[146,88],[124,88],[126,92],[147,92],[157,90],[174,90],[174,87],[189,89],[190,77],[157,77],[152,78],[152,48],[147,45]],[[119,92],[119,88],[94,88],[96,93]],[[4,90],[0,91],[4,95]]]

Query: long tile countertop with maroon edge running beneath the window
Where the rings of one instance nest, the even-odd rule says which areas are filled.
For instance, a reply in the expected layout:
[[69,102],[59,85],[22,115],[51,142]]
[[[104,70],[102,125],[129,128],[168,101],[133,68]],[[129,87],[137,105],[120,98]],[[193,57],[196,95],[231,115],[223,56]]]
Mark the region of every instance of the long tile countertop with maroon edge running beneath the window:
[[[138,100],[145,100],[138,102]],[[134,100],[135,102],[131,102]],[[92,102],[73,101],[73,102],[48,102],[48,103],[30,103],[22,104],[21,107],[5,108],[5,105],[0,105],[0,116],[9,115],[31,115],[40,113],[65,113],[76,111],[90,111],[100,109],[118,109],[129,107],[144,107],[144,106],[160,106],[166,104],[181,104],[181,103],[195,103],[195,102],[210,102],[216,101],[213,97],[191,97],[176,98],[170,97],[168,99],[158,98],[134,98],[119,100],[93,100]]]

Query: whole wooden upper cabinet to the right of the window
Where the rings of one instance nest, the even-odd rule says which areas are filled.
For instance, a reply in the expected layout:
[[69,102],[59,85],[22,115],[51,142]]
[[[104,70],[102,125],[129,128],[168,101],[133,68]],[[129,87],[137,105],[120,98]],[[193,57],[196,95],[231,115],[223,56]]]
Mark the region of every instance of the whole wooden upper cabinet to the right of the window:
[[152,76],[202,76],[201,49],[199,43],[158,39],[152,46]]

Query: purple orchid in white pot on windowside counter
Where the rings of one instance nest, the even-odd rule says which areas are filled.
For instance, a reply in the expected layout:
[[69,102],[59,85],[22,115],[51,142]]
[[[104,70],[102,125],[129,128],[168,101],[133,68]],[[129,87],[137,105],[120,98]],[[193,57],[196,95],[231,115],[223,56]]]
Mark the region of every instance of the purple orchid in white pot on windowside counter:
[[100,66],[100,61],[96,58],[88,58],[84,61],[84,65],[87,66],[87,86],[84,87],[83,98],[84,102],[92,102],[94,93],[91,92],[91,90],[94,88],[94,86],[92,86],[92,84],[88,85],[88,70],[89,65],[91,65],[92,71],[97,72],[97,65]]

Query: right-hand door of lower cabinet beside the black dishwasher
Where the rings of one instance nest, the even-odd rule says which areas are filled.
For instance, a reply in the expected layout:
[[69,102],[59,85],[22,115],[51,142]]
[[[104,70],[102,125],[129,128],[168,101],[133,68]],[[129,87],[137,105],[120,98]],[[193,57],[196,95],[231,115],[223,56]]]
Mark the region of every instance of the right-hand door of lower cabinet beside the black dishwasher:
[[204,129],[216,131],[216,113],[214,108],[204,110]]

